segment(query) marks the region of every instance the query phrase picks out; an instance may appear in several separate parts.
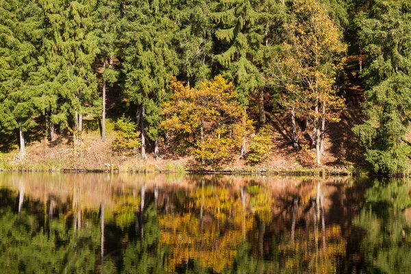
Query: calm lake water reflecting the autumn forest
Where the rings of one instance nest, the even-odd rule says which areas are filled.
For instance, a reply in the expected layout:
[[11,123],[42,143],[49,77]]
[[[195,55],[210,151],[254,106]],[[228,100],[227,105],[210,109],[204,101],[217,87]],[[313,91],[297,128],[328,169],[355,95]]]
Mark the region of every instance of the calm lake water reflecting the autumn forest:
[[410,186],[0,173],[0,273],[411,273]]

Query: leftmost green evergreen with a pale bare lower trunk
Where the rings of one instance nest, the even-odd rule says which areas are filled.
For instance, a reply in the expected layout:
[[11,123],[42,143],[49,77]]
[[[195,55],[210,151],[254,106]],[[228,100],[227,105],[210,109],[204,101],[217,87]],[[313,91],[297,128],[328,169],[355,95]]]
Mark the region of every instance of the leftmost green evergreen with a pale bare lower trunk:
[[19,159],[25,157],[24,132],[36,125],[41,96],[34,86],[41,21],[36,2],[0,3],[0,128],[9,134],[18,129]]

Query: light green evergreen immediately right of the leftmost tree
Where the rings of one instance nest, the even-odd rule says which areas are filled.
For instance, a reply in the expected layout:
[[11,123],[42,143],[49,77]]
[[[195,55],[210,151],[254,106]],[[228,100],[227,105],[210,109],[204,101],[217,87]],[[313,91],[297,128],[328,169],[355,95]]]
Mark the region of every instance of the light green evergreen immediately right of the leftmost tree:
[[[84,114],[95,114],[98,102],[93,64],[99,53],[93,14],[97,1],[42,0],[47,18],[42,42],[44,103],[51,122],[82,131]],[[47,113],[48,112],[48,113]]]

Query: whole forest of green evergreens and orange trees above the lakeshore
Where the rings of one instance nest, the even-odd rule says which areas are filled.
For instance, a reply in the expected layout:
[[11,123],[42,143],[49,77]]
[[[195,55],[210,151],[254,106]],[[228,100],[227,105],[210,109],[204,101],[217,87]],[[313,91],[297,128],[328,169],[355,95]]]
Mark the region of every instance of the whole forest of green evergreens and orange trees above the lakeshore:
[[1,0],[0,162],[408,173],[410,22],[409,0]]

